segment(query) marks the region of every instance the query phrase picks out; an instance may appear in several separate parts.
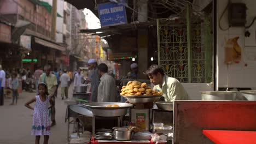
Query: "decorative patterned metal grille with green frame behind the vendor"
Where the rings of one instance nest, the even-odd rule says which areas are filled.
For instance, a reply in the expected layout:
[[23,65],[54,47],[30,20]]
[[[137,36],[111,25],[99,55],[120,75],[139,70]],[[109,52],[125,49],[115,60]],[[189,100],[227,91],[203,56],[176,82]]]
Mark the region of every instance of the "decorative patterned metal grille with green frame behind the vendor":
[[[195,20],[193,18],[193,20]],[[197,19],[198,20],[198,19]],[[191,82],[203,83],[205,75],[205,46],[202,21],[192,22],[192,74]],[[180,82],[189,82],[187,24],[185,19],[158,20],[159,65],[168,76]]]

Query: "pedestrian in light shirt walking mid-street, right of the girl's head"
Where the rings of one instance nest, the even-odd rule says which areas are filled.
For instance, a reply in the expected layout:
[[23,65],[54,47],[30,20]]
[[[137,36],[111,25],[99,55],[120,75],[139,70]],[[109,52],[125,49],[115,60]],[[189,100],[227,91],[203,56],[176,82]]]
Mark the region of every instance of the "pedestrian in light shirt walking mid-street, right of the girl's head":
[[61,98],[64,99],[64,95],[66,99],[68,98],[68,85],[70,83],[70,77],[67,74],[67,70],[63,70],[63,74],[60,77],[61,82]]

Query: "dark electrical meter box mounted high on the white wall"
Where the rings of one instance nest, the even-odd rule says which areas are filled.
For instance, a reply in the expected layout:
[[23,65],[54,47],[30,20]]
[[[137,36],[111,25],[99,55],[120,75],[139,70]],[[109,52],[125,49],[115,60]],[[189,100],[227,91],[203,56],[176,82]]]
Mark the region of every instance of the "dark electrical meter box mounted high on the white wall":
[[229,5],[229,25],[231,27],[244,27],[246,25],[246,4],[231,3]]

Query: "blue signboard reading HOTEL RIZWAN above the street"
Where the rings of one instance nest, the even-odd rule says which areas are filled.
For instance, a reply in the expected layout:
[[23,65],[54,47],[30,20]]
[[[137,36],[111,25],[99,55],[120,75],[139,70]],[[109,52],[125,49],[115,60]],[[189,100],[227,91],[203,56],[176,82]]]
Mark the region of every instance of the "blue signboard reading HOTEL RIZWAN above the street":
[[101,26],[115,26],[127,23],[125,7],[117,3],[98,4]]

